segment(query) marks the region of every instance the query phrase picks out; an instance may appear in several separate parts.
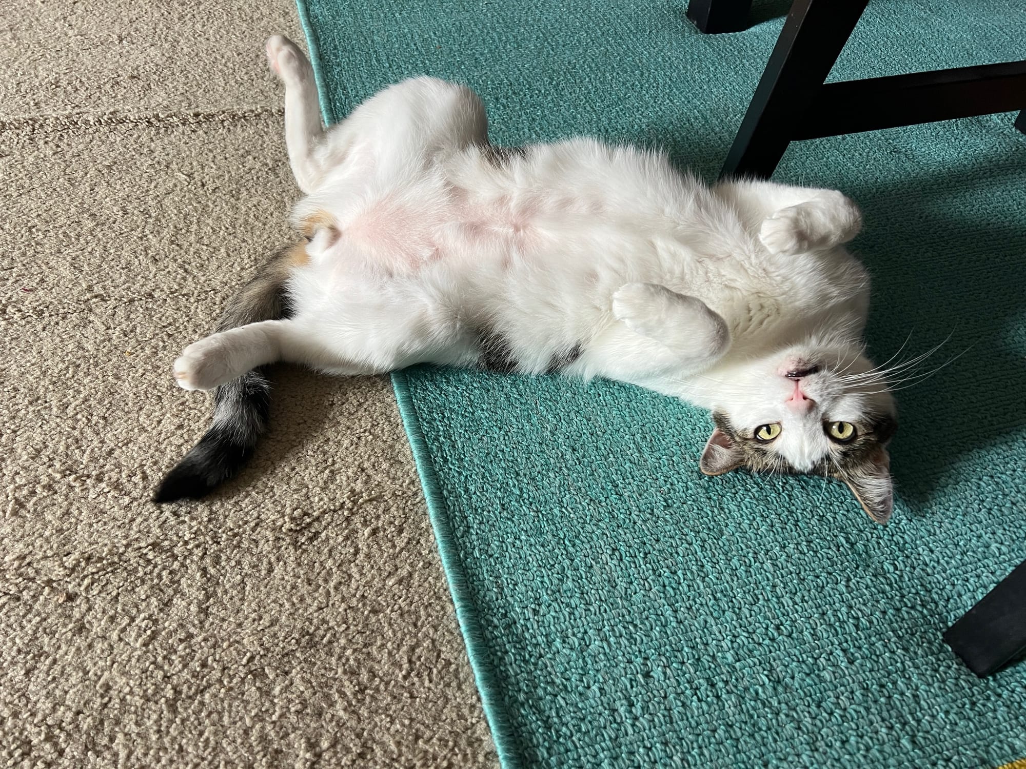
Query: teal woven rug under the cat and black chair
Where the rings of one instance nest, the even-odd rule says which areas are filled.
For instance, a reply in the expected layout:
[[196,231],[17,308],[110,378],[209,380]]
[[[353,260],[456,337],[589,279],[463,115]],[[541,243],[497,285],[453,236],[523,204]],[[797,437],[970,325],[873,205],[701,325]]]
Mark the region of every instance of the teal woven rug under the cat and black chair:
[[[427,73],[492,139],[592,134],[712,178],[783,24],[703,37],[667,0],[301,0],[324,114]],[[832,79],[1026,58],[1019,0],[874,0]],[[1026,106],[1026,94],[1024,94]],[[394,377],[467,648],[512,767],[993,767],[1026,757],[1026,664],[941,642],[1026,559],[1026,136],[1013,115],[793,145],[777,178],[865,209],[900,392],[897,504],[709,479],[699,410],[631,387]]]

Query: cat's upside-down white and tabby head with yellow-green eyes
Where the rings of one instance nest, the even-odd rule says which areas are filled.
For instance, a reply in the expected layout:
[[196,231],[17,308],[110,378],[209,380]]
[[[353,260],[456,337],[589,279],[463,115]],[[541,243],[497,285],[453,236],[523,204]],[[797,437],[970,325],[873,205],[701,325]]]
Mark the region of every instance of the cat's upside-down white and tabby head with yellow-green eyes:
[[810,345],[734,367],[713,410],[700,467],[832,476],[885,523],[894,494],[886,444],[894,398],[856,346]]

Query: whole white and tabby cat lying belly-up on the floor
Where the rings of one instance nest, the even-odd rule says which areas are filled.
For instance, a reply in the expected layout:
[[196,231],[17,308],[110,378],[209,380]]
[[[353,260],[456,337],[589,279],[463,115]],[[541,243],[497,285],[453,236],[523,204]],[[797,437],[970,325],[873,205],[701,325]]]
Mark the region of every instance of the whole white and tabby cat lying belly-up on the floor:
[[606,377],[711,411],[699,459],[846,483],[893,511],[897,428],[864,354],[862,226],[839,192],[759,180],[711,188],[659,152],[589,138],[505,148],[469,88],[421,77],[324,131],[313,70],[267,42],[304,234],[174,362],[214,390],[213,422],[156,501],[200,497],[251,454],[263,367],[344,376],[416,363]]

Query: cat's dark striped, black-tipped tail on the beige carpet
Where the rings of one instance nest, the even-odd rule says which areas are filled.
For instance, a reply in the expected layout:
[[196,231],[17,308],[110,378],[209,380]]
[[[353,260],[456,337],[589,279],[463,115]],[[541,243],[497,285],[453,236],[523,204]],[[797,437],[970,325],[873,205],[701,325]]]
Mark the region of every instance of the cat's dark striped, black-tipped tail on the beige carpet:
[[[289,269],[306,259],[303,246],[284,249],[233,296],[218,323],[218,331],[279,320],[291,314],[285,283]],[[267,430],[271,383],[265,367],[247,371],[213,394],[213,422],[196,446],[164,476],[155,502],[198,499],[213,491],[249,460]]]

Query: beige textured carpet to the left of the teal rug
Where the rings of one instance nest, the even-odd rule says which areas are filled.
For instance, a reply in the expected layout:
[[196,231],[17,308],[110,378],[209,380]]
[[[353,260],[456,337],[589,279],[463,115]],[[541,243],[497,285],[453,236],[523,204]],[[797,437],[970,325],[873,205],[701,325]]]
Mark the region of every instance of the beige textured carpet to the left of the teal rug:
[[494,766],[387,380],[282,369],[248,472],[148,501],[208,415],[171,361],[289,237],[293,7],[2,27],[0,766]]

